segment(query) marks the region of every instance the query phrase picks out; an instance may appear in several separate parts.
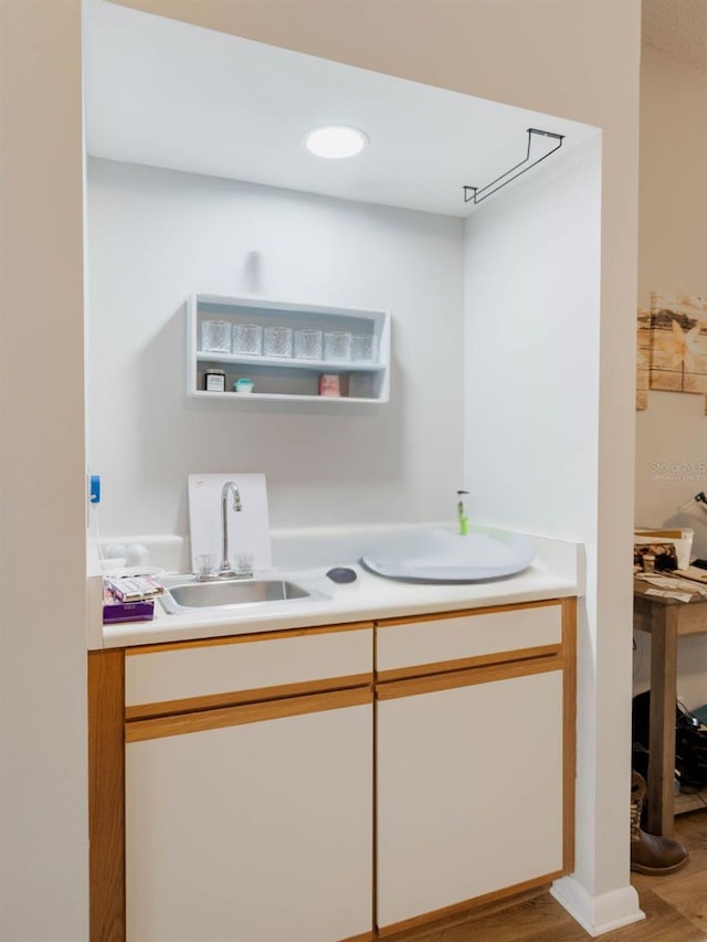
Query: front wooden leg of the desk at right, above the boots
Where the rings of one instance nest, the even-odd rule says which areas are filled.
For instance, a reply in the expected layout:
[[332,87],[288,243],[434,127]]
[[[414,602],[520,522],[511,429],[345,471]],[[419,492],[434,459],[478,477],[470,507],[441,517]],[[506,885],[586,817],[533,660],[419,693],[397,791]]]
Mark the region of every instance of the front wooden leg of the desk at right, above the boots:
[[677,606],[654,605],[651,622],[651,739],[646,830],[650,834],[672,837],[675,816]]

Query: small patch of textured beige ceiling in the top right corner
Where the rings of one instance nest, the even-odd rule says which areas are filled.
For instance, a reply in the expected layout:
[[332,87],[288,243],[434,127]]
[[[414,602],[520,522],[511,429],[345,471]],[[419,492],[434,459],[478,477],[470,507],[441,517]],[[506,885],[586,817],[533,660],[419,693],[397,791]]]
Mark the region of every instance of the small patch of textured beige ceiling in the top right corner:
[[707,0],[643,0],[643,42],[707,72]]

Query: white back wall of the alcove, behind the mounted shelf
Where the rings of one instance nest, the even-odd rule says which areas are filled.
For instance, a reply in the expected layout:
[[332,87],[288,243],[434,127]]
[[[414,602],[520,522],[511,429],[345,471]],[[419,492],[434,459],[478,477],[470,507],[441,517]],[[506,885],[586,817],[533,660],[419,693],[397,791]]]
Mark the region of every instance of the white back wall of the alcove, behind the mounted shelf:
[[[190,473],[264,472],[276,528],[453,517],[462,220],[104,160],[88,182],[88,461],[103,536],[187,533]],[[188,399],[192,292],[389,309],[390,403]]]

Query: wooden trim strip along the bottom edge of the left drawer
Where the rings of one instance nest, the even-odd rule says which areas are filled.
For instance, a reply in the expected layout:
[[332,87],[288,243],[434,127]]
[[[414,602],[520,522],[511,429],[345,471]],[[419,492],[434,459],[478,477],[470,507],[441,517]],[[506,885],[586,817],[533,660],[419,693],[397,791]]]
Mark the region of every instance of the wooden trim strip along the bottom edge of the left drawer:
[[156,703],[136,703],[125,708],[125,719],[133,722],[134,720],[154,719],[172,713],[194,713],[199,710],[236,707],[243,703],[257,703],[263,700],[281,700],[308,694],[346,690],[351,687],[370,687],[372,682],[372,674],[349,674],[346,677],[330,677],[325,680],[300,680],[297,684],[278,684],[274,687],[256,687],[252,690],[232,690],[225,694],[209,694],[203,697],[161,700]]

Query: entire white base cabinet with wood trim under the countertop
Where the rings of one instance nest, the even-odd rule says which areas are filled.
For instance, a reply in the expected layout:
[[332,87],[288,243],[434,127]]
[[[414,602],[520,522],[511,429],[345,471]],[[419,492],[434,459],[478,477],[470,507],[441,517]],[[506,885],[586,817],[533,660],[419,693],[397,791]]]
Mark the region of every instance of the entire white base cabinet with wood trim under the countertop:
[[574,629],[566,599],[92,652],[92,939],[370,942],[571,872]]

